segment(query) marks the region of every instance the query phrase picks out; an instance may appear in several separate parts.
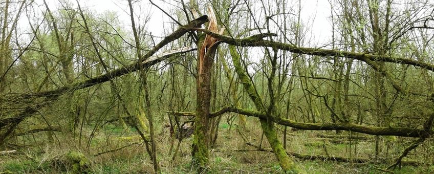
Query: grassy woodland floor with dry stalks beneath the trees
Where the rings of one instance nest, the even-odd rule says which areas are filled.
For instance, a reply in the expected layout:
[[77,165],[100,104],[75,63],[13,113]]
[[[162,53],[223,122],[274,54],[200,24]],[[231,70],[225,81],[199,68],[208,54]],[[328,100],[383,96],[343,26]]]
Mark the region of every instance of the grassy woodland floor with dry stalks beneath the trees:
[[[219,138],[215,146],[211,147],[210,152],[210,173],[281,173],[281,169],[275,156],[267,151],[258,151],[255,147],[248,146],[241,138],[234,126],[230,126],[225,119],[219,127]],[[248,118],[246,133],[252,144],[259,145],[261,141],[261,128],[256,123],[255,118]],[[121,150],[94,156],[101,151],[116,149],[132,142],[141,142],[140,137],[131,130],[124,130],[120,126],[108,124],[103,131],[94,136],[90,143],[90,150],[86,150],[88,139],[81,140],[79,146],[78,138],[64,138],[65,135],[56,133],[58,140],[46,143],[41,137],[45,133],[35,135],[20,136],[15,145],[21,146],[17,154],[0,155],[0,171],[12,173],[70,173],[67,169],[58,167],[54,161],[62,158],[70,150],[81,151],[90,168],[91,173],[149,173],[153,171],[152,163],[146,153],[143,144],[135,144]],[[283,127],[278,127],[282,129]],[[192,173],[190,166],[190,146],[192,138],[187,138],[181,143],[182,153],[172,161],[170,149],[170,136],[167,128],[158,127],[157,144],[158,160],[162,173]],[[83,135],[90,135],[91,129],[83,130]],[[350,142],[346,140],[332,140],[319,138],[318,134],[335,135],[334,132],[311,132],[298,130],[288,131],[287,150],[305,155],[323,155],[350,157]],[[343,135],[348,133],[343,133]],[[281,135],[281,132],[280,132]],[[63,136],[63,137],[61,137]],[[390,139],[395,137],[388,137]],[[387,144],[388,138],[383,138],[382,143]],[[351,149],[354,157],[354,149],[357,144],[357,157],[370,158],[374,154],[374,137],[367,140],[351,141]],[[389,145],[387,150],[383,145],[381,157],[394,158],[400,155],[406,147],[404,142],[411,139],[399,138],[401,145]],[[393,141],[397,141],[394,139]],[[33,145],[28,145],[33,144]],[[39,144],[39,145],[34,145]],[[177,143],[174,144],[175,147]],[[268,143],[264,139],[262,147],[268,149]],[[326,152],[327,151],[327,152]],[[386,156],[387,154],[387,156]],[[410,152],[404,160],[416,160],[419,166],[403,165],[401,169],[393,170],[395,173],[434,173],[433,163],[434,143],[428,139],[419,146],[416,151]],[[295,159],[296,165],[305,173],[381,173],[378,168],[386,168],[389,164],[369,163],[350,163],[332,162],[319,160],[300,161]],[[2,173],[2,172],[0,172]]]

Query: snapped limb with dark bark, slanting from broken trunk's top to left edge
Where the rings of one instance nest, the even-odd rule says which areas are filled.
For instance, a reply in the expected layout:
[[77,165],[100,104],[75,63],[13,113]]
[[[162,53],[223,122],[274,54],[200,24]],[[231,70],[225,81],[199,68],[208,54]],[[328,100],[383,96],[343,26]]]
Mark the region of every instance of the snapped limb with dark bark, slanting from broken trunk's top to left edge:
[[[176,30],[172,34],[166,36],[153,49],[151,49],[149,52],[147,52],[145,55],[143,55],[141,57],[141,60],[144,60],[144,61],[142,61],[142,62],[137,61],[135,63],[129,64],[128,66],[118,68],[116,70],[113,70],[111,72],[108,72],[106,74],[98,76],[96,78],[91,78],[89,80],[84,80],[84,81],[80,81],[80,82],[73,83],[70,85],[66,85],[66,86],[63,86],[63,87],[55,89],[55,90],[37,92],[37,93],[28,93],[28,94],[23,94],[23,95],[8,97],[7,99],[3,99],[3,101],[6,101],[6,102],[9,102],[10,100],[12,100],[12,101],[18,100],[19,101],[19,100],[30,99],[31,100],[31,101],[29,101],[30,103],[36,103],[36,104],[29,104],[25,108],[24,111],[16,114],[15,116],[0,120],[0,145],[2,145],[4,143],[4,140],[13,132],[15,127],[21,121],[23,121],[25,118],[31,117],[34,113],[36,113],[38,110],[40,110],[40,108],[51,105],[53,103],[53,101],[56,101],[63,94],[66,94],[68,92],[73,92],[76,90],[80,90],[80,89],[84,89],[84,88],[88,88],[90,86],[109,81],[109,80],[114,79],[116,77],[138,71],[140,68],[149,68],[149,67],[153,66],[154,64],[157,64],[157,63],[163,61],[164,59],[166,59],[170,56],[173,56],[175,54],[181,54],[181,53],[186,53],[186,52],[196,50],[196,49],[182,48],[182,49],[178,49],[178,50],[169,52],[168,54],[164,54],[162,56],[151,57],[155,53],[157,53],[157,51],[159,51],[161,48],[163,48],[164,46],[166,46],[170,42],[180,38],[181,36],[183,36],[184,34],[189,32],[189,30],[187,30],[186,28],[200,27],[201,25],[205,24],[207,21],[208,21],[208,16],[203,15],[203,16],[195,19],[195,20],[190,21],[190,23],[188,23],[187,25],[180,27],[178,30]],[[40,102],[40,101],[36,100],[37,97],[46,97],[46,98],[44,99],[44,102]],[[13,98],[13,99],[11,99],[11,98]],[[32,102],[32,100],[34,100],[34,101]],[[29,102],[25,102],[25,103],[29,103]],[[4,130],[4,129],[6,129],[6,130]]]

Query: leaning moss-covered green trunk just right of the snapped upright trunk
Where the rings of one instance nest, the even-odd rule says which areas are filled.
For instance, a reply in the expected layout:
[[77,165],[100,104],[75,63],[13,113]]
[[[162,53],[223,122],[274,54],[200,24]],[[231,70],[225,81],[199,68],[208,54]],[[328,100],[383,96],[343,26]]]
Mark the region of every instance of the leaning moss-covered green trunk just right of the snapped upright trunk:
[[[243,83],[244,90],[249,94],[250,99],[256,106],[256,109],[260,112],[265,112],[266,108],[263,105],[262,98],[259,97],[257,91],[253,88],[253,84],[250,78],[247,76],[245,70],[242,68],[240,54],[238,54],[234,46],[229,46],[229,51],[232,56],[235,71],[238,74],[238,78],[240,78],[240,81]],[[270,143],[270,146],[273,149],[273,152],[276,155],[282,169],[285,172],[297,172],[297,169],[292,160],[289,158],[288,154],[286,153],[285,148],[277,139],[277,134],[271,118],[261,118],[260,120],[264,135],[267,137],[267,140]]]

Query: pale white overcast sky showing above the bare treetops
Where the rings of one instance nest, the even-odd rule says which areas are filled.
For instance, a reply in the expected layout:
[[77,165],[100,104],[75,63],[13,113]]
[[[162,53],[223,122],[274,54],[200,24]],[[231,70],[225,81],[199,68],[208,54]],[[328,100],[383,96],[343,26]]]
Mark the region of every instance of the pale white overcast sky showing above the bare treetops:
[[[52,11],[55,11],[59,7],[58,0],[46,0]],[[71,1],[76,5],[75,1]],[[101,14],[106,11],[114,11],[117,13],[121,21],[124,23],[124,27],[129,29],[131,27],[131,21],[129,19],[128,2],[126,0],[87,0],[79,1],[82,8],[92,10],[96,14]],[[134,1],[133,1],[134,2]],[[154,0],[155,4],[159,5],[163,9],[170,9],[167,3],[161,0]],[[176,4],[175,1],[166,0],[165,2]],[[36,0],[36,4],[40,5],[41,10],[45,10],[45,6],[42,0]],[[140,6],[138,5],[140,3]],[[297,2],[295,2],[297,3]],[[141,8],[139,8],[141,7]],[[138,16],[142,19],[144,15],[150,14],[150,20],[146,25],[147,31],[151,32],[155,36],[165,36],[164,25],[171,22],[170,18],[161,12],[155,6],[151,6],[149,1],[142,0],[135,3],[136,23],[140,23]],[[308,28],[307,39],[310,40],[309,46],[323,46],[330,43],[331,40],[331,20],[330,20],[330,4],[325,0],[307,0],[301,1],[301,19]],[[23,18],[25,23],[28,24],[27,18]],[[143,20],[142,20],[143,21]],[[137,24],[136,24],[137,25]]]

